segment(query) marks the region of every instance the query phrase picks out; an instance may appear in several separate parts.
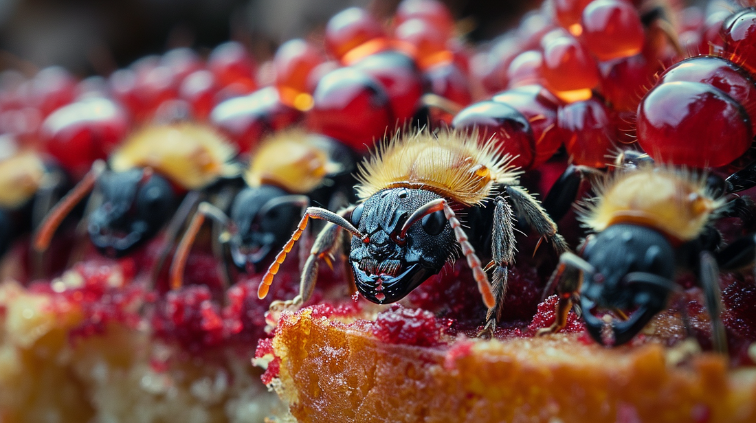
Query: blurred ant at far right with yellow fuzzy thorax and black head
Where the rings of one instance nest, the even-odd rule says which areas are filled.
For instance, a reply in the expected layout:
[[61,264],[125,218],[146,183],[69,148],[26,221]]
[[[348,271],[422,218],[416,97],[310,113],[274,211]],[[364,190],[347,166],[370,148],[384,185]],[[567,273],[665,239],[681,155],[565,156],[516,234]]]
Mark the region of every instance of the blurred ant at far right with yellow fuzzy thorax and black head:
[[[556,320],[539,335],[558,332],[577,302],[587,330],[600,344],[624,344],[634,338],[679,288],[678,273],[691,270],[699,279],[711,315],[714,349],[726,352],[719,319],[720,270],[753,264],[753,236],[717,252],[717,218],[728,215],[727,183],[714,175],[696,174],[645,162],[606,176],[596,197],[584,203],[580,219],[593,231],[578,247],[579,255],[559,258],[549,287],[557,286]],[[547,289],[550,292],[550,289]],[[621,321],[606,323],[603,309]],[[629,317],[627,310],[636,309]]]

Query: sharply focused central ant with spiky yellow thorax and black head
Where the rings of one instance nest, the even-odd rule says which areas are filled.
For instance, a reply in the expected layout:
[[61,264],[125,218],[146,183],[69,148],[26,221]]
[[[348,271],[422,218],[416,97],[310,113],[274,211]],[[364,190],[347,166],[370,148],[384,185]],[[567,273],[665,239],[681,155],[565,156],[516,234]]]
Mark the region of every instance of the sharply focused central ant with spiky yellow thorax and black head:
[[[419,131],[394,137],[362,162],[359,202],[339,212],[309,207],[259,286],[265,298],[280,264],[302,236],[310,218],[329,223],[318,233],[302,270],[299,295],[271,307],[299,307],[310,298],[321,258],[330,258],[352,234],[349,263],[358,291],[369,301],[404,298],[460,253],[488,307],[481,335],[490,336],[507,291],[507,269],[516,252],[515,210],[557,253],[569,248],[556,224],[518,185],[512,158],[490,141],[460,131]],[[492,205],[492,207],[486,207]],[[469,229],[463,229],[466,225]],[[490,258],[484,267],[479,253]],[[493,268],[493,285],[486,269]]]

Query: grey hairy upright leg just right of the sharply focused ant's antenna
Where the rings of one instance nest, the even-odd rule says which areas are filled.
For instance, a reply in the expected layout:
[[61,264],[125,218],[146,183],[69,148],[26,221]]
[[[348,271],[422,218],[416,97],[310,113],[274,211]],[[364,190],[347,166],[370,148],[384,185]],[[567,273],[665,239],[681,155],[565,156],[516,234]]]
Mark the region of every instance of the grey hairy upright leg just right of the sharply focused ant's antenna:
[[493,283],[491,289],[494,293],[494,307],[488,309],[485,314],[485,326],[478,333],[483,338],[491,338],[496,329],[497,320],[501,316],[501,306],[504,295],[507,294],[508,267],[515,261],[515,233],[513,221],[515,220],[512,206],[507,200],[498,196],[494,200],[494,228],[491,242],[492,260],[494,267]]

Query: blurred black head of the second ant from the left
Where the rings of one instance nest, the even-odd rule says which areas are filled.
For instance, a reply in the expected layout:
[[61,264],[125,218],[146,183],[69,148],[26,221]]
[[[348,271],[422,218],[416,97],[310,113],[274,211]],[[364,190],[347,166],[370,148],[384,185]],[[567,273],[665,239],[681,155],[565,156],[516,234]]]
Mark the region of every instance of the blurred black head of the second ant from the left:
[[89,238],[104,255],[122,257],[147,242],[174,214],[173,187],[149,169],[104,171],[101,205],[89,216]]

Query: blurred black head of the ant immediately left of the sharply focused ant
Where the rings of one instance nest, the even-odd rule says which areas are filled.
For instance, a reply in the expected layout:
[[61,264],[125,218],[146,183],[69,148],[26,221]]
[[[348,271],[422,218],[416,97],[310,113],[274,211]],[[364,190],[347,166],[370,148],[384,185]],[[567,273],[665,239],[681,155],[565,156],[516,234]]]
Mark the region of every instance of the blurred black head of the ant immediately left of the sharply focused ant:
[[302,217],[305,201],[271,185],[246,187],[237,194],[231,205],[236,232],[230,246],[239,270],[259,270],[283,248]]

